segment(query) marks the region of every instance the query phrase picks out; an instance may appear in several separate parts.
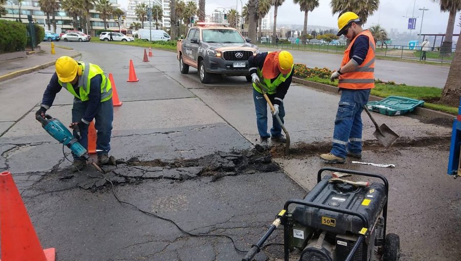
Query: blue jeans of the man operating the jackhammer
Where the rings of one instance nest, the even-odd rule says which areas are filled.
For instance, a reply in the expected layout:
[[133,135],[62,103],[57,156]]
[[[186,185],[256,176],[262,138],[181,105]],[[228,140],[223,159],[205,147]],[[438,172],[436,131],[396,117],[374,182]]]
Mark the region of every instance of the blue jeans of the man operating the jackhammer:
[[[80,121],[87,110],[88,102],[74,99],[72,107],[72,122]],[[98,155],[109,153],[111,150],[111,134],[112,134],[112,120],[114,119],[114,108],[112,106],[112,98],[110,100],[100,102],[97,108],[96,116],[94,117],[94,128],[97,130],[96,139],[96,153]],[[90,125],[83,124],[80,128],[80,140],[78,143],[88,150],[88,127]],[[75,130],[73,131],[76,137]],[[76,155],[72,154],[74,159],[79,159]]]

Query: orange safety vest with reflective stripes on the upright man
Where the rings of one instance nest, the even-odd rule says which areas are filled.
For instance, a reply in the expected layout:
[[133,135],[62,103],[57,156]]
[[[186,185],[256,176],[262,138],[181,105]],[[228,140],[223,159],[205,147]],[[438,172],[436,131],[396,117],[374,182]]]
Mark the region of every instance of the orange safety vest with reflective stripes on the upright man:
[[346,63],[350,61],[349,53],[350,48],[354,44],[355,39],[359,37],[359,35],[366,35],[368,36],[369,41],[369,48],[367,56],[362,64],[355,68],[354,71],[343,73],[339,77],[339,88],[344,89],[354,89],[354,90],[361,90],[361,89],[371,89],[374,88],[374,53],[375,53],[375,44],[373,35],[371,35],[370,31],[363,30],[354,39],[350,42],[349,46],[347,47],[346,51],[344,51],[343,61],[341,62],[341,67],[345,66]]

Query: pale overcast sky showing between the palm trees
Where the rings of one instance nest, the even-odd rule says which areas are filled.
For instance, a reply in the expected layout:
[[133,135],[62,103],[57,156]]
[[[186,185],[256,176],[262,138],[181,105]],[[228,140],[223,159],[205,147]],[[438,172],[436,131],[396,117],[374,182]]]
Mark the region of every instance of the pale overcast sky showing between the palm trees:
[[[127,8],[128,0],[118,0],[122,7]],[[247,0],[242,0],[245,5]],[[381,0],[380,9],[377,10],[372,16],[368,17],[365,27],[370,27],[373,24],[380,23],[388,32],[391,28],[397,28],[399,32],[407,31],[408,18],[402,16],[413,15],[416,18],[416,31],[420,31],[421,18],[423,11],[419,8],[427,8],[429,11],[424,12],[423,30],[422,33],[445,33],[448,22],[448,12],[442,13],[438,4],[433,3],[431,0]],[[337,27],[338,15],[331,14],[329,6],[330,0],[319,0],[319,7],[309,12],[307,24],[317,26]],[[238,10],[241,10],[240,0],[206,0],[205,12],[211,14],[217,7],[233,7],[238,4]],[[299,6],[295,5],[292,0],[286,0],[285,3],[279,7],[277,15],[277,24],[299,24],[302,25],[304,21],[304,14],[299,11]],[[459,33],[459,13],[456,16],[456,26],[454,33]],[[408,30],[409,31],[409,30]],[[414,31],[413,31],[414,32]]]

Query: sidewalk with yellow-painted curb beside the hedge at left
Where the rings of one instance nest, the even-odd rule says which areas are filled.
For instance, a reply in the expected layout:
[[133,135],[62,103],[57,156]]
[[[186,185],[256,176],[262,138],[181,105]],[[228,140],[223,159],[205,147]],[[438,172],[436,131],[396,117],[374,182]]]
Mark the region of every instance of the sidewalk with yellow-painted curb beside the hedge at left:
[[76,50],[68,50],[55,46],[56,54],[51,54],[51,43],[41,42],[40,52],[28,55],[25,58],[2,61],[0,63],[0,82],[20,75],[28,74],[52,66],[57,58],[63,55],[76,57]]

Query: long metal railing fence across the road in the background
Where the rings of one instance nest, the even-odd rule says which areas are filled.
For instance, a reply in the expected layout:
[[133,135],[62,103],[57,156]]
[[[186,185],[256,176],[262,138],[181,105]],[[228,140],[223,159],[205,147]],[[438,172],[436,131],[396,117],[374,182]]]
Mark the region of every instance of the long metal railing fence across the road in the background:
[[[304,50],[304,51],[314,51],[314,52],[328,52],[328,53],[343,53],[346,50],[346,45],[344,44],[322,44],[322,43],[308,43],[303,45],[290,44],[286,42],[279,42],[277,44],[270,44],[263,42],[259,44],[261,47],[274,47],[280,49],[291,49],[291,50]],[[451,63],[455,53],[455,48],[448,50],[447,52],[442,53],[438,47],[431,48],[430,51],[422,52],[421,47],[411,47],[411,46],[377,46],[376,47],[376,56],[378,57],[389,57],[396,59],[407,59],[407,60],[424,60],[440,63]]]

